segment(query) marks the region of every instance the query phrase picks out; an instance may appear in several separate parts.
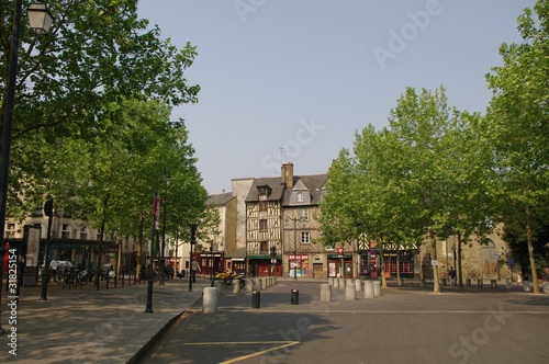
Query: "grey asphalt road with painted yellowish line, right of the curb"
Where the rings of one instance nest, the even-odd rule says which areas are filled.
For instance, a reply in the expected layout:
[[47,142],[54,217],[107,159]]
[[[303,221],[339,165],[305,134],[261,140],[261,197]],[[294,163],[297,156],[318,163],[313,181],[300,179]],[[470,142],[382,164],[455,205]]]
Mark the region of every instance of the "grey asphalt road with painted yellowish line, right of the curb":
[[141,363],[549,363],[549,295],[391,287],[345,300],[333,288],[326,304],[320,291],[279,282],[261,292],[260,308],[250,293],[226,292],[210,315],[199,303]]

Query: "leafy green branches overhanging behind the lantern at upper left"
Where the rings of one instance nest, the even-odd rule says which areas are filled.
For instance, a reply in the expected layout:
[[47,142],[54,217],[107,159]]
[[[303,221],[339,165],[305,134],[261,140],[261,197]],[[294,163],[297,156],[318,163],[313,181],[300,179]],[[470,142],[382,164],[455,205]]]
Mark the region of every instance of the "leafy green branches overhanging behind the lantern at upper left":
[[[12,5],[0,4],[4,45],[10,44]],[[156,99],[173,106],[195,102],[200,89],[183,76],[195,48],[187,44],[178,49],[161,39],[157,26],[138,19],[137,0],[60,0],[48,5],[55,16],[51,34],[35,37],[22,26],[10,185],[18,194],[10,194],[11,214],[36,206],[48,157],[41,152],[44,145],[75,135],[94,140],[109,118],[105,106],[123,98]],[[5,95],[9,46],[1,52],[0,89]],[[35,135],[45,128],[55,132]],[[22,193],[24,198],[18,200]],[[18,208],[23,202],[30,206]]]

